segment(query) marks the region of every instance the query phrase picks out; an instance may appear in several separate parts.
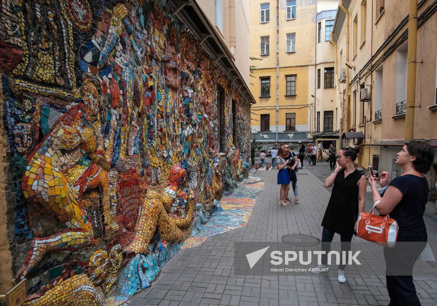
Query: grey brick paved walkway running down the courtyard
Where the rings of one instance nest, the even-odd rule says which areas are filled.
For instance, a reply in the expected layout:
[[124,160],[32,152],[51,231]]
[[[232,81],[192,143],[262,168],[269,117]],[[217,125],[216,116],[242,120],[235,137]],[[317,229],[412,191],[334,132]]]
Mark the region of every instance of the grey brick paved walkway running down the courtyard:
[[[340,284],[332,270],[317,276],[234,277],[234,241],[280,241],[286,234],[321,237],[319,225],[329,200],[329,190],[306,169],[298,176],[299,205],[277,204],[277,170],[257,171],[255,175],[266,183],[248,226],[180,251],[148,290],[131,298],[129,306],[388,305],[385,278],[346,274],[347,283]],[[415,278],[415,285],[423,306],[437,305],[437,275],[433,279]]]

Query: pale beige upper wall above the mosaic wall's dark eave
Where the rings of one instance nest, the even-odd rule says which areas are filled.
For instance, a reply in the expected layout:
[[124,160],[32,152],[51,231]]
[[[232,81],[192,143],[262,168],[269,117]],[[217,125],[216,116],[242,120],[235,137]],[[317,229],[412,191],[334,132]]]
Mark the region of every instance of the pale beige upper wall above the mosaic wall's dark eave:
[[[215,1],[197,0],[208,18],[215,23]],[[229,6],[228,0],[222,0],[222,34],[229,46]],[[250,83],[249,77],[249,0],[235,1],[235,29],[236,29],[236,52],[235,65],[247,85]]]

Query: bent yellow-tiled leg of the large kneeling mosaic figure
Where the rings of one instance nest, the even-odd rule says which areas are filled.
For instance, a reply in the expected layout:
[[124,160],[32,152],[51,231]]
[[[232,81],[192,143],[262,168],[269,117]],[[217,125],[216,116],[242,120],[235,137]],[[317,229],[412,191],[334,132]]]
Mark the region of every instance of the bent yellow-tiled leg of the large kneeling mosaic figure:
[[17,278],[23,279],[48,251],[82,248],[93,243],[93,230],[65,176],[50,163],[31,161],[24,173],[22,189],[27,202],[39,213],[58,218],[68,227],[49,237],[35,238]]

